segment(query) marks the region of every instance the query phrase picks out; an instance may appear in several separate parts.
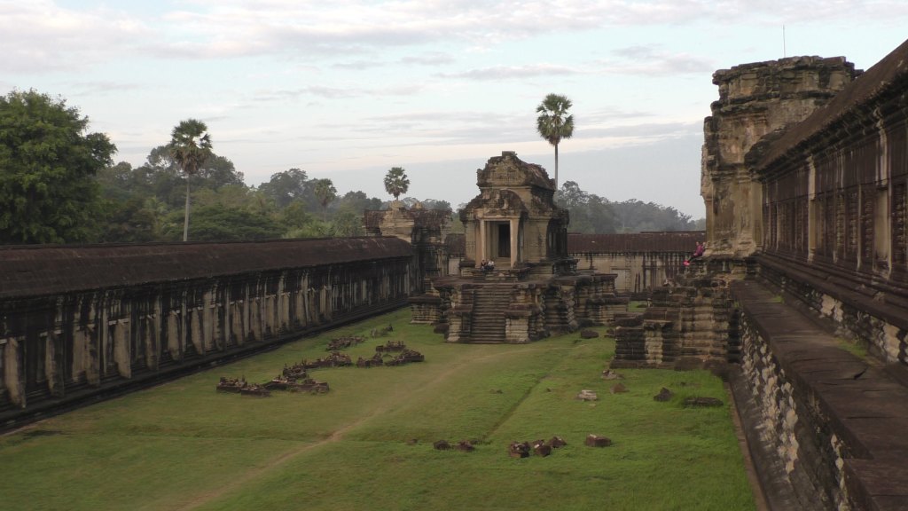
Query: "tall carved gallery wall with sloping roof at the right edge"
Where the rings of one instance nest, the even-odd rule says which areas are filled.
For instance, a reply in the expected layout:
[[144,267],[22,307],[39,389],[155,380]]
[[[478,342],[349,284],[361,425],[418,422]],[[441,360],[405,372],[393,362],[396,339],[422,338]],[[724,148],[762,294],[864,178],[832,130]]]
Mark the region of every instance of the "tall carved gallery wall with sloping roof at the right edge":
[[762,182],[763,275],[908,364],[908,43],[748,155]]

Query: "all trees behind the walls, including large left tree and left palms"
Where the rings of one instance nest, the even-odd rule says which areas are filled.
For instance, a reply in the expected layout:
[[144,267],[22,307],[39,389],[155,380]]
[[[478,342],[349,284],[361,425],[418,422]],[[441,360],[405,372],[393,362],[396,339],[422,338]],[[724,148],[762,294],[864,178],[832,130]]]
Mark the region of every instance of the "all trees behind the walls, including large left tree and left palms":
[[[340,193],[330,179],[310,178],[299,168],[248,186],[231,160],[210,150],[207,127],[192,119],[174,128],[171,144],[155,147],[143,165],[114,165],[115,145],[104,134],[85,133],[87,124],[62,98],[35,91],[0,96],[0,244],[179,241],[187,193],[192,241],[363,235],[363,211],[390,204],[361,191]],[[385,188],[396,196],[409,183],[403,169],[391,169]],[[702,221],[673,207],[609,202],[573,181],[556,198],[570,210],[571,232],[702,228]],[[401,200],[456,209],[443,200]],[[456,210],[451,222],[462,232]]]

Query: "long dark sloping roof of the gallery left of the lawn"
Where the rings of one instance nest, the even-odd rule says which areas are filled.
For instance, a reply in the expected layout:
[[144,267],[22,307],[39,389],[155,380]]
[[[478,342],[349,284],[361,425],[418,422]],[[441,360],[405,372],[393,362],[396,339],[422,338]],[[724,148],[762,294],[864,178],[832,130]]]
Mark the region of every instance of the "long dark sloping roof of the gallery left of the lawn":
[[410,256],[410,244],[394,237],[0,246],[0,297],[42,296]]

